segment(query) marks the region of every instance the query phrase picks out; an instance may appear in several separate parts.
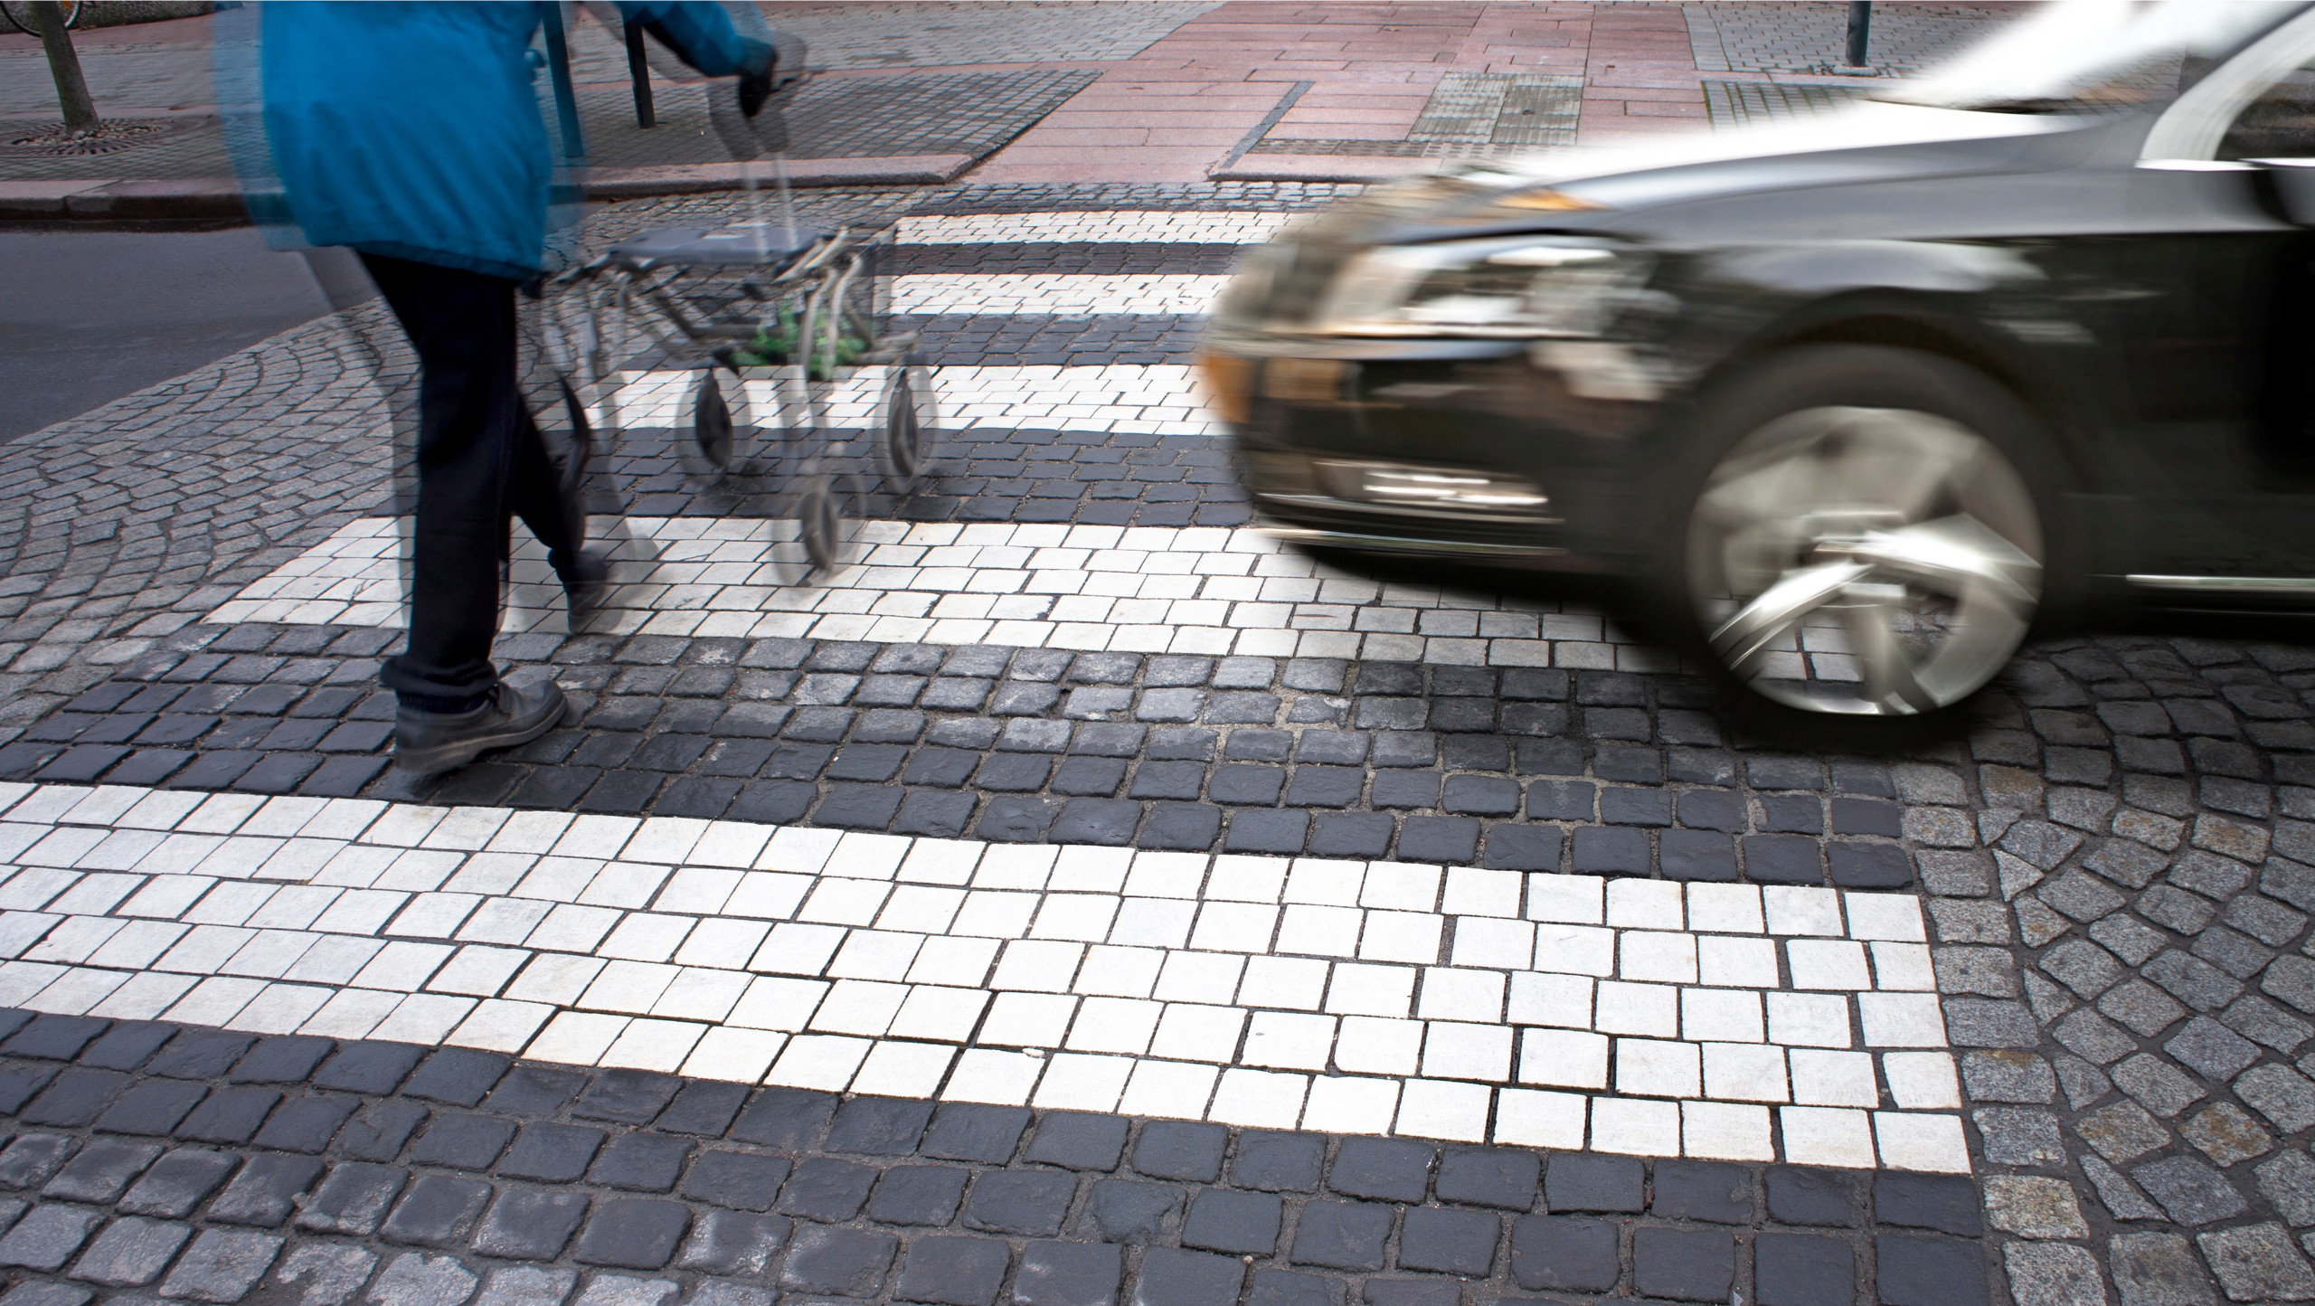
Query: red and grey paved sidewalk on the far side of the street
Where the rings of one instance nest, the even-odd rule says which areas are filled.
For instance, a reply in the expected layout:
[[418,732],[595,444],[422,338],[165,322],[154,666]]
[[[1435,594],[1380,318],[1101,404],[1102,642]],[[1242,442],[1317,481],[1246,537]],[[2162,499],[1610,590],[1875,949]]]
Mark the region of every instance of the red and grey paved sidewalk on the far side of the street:
[[[789,109],[799,185],[1375,181],[1808,113],[1857,86],[1822,76],[1840,42],[1822,5],[1107,2],[1007,7],[998,23],[896,2],[866,25],[826,5],[766,9],[822,69]],[[1917,72],[2012,9],[1889,7],[1877,58]],[[0,215],[232,218],[208,28],[83,37],[100,111],[150,132],[97,155],[0,144]],[[572,56],[590,195],[741,185],[701,86],[660,81],[646,132],[616,37],[581,23]],[[37,46],[0,37],[0,123],[53,111]]]

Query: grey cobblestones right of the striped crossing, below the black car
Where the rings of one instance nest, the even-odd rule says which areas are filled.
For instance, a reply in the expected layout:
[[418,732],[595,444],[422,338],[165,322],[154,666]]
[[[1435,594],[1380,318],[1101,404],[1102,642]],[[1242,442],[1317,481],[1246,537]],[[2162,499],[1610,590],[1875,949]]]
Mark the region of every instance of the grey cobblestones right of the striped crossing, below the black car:
[[1891,766],[2021,1304],[2315,1292],[2308,690],[2296,646],[2053,641]]

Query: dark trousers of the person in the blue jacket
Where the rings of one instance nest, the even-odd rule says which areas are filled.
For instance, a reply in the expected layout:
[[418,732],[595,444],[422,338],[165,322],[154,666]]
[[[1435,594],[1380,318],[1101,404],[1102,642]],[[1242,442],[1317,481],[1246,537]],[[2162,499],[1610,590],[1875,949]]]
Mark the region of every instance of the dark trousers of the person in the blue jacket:
[[382,255],[361,262],[419,354],[410,651],[377,678],[410,706],[447,711],[498,681],[491,639],[512,519],[560,574],[586,544],[586,509],[565,493],[523,403],[514,283]]

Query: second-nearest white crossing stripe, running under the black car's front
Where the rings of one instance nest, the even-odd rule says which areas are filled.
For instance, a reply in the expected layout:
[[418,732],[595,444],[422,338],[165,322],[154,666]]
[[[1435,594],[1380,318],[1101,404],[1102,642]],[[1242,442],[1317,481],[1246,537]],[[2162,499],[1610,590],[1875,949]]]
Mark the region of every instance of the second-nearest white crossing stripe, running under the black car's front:
[[[1127,653],[1366,658],[1664,672],[1678,660],[1595,611],[1336,572],[1262,530],[861,523],[857,565],[794,572],[794,523],[595,519],[616,584],[609,634],[1002,644]],[[363,516],[250,581],[206,621],[403,625],[407,519]],[[546,551],[516,528],[505,630],[567,632]]]

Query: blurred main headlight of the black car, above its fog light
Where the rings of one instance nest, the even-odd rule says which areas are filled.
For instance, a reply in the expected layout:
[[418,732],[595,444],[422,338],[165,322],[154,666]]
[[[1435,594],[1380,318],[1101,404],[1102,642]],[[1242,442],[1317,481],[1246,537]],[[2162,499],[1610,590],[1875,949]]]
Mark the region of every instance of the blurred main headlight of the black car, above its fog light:
[[1648,255],[1607,241],[1493,239],[1368,250],[1320,313],[1338,336],[1600,336],[1648,276]]

